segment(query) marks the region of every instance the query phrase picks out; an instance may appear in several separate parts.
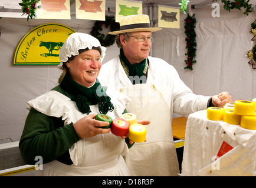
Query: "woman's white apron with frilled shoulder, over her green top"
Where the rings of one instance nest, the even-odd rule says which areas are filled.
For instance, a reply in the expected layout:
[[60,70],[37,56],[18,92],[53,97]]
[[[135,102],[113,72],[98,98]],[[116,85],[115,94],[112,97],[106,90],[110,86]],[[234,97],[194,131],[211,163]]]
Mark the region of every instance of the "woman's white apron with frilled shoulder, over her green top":
[[[110,96],[111,98],[111,96]],[[125,100],[125,99],[124,99]],[[112,102],[112,100],[111,100]],[[121,109],[120,103],[113,99],[115,110]],[[81,113],[76,103],[67,96],[50,91],[28,102],[29,106],[49,116],[63,117],[65,125],[81,119],[86,114]],[[125,106],[124,106],[125,108]],[[91,113],[99,113],[98,105],[90,106]],[[124,110],[124,109],[122,109]],[[122,112],[122,111],[121,111]],[[112,118],[117,113],[109,112]],[[54,143],[52,143],[54,144]],[[37,170],[38,176],[129,176],[129,170],[122,155],[126,155],[128,147],[119,136],[111,132],[81,139],[70,148],[73,164],[67,165],[57,160],[43,164],[43,170]]]

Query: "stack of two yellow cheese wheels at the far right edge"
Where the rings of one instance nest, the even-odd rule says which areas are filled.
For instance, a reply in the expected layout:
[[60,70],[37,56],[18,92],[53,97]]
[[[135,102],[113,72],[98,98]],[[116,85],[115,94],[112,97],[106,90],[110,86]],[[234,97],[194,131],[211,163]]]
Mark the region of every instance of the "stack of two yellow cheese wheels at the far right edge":
[[256,130],[254,102],[248,100],[235,100],[234,113],[241,115],[241,127]]

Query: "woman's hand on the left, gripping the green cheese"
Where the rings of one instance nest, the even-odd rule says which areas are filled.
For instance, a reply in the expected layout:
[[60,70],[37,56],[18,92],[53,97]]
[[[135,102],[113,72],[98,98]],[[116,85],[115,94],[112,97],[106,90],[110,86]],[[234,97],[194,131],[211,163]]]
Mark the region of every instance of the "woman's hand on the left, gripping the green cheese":
[[83,139],[86,137],[93,137],[99,134],[106,134],[110,132],[109,129],[103,129],[101,127],[108,126],[109,122],[101,122],[95,120],[96,114],[88,115],[81,118],[76,123],[74,123],[74,128],[77,132],[77,135]]

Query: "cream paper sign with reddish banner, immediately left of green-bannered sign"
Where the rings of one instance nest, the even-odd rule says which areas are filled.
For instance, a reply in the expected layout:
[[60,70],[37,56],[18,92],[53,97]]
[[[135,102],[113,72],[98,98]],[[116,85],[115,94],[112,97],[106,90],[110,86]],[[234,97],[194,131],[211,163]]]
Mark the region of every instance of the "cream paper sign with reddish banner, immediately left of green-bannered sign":
[[76,0],[76,18],[105,21],[106,0]]

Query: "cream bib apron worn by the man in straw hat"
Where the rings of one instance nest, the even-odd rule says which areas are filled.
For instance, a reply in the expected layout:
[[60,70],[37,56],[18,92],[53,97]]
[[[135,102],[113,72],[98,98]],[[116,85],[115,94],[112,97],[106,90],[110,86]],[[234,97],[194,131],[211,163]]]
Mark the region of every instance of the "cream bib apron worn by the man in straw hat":
[[178,158],[172,137],[172,117],[162,94],[147,83],[120,88],[132,102],[126,106],[137,120],[150,120],[146,142],[135,143],[124,160],[131,176],[177,176]]

